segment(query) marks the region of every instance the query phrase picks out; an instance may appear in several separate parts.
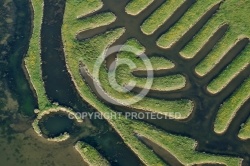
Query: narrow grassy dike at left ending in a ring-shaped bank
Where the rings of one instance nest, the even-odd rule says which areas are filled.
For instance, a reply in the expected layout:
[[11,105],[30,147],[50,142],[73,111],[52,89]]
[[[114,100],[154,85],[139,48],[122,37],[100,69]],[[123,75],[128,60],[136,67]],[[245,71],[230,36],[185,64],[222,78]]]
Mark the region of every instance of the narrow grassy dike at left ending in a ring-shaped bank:
[[[81,123],[82,120],[76,116],[76,114],[64,107],[60,107],[57,104],[51,103],[47,98],[44,82],[42,79],[42,69],[41,69],[41,47],[40,47],[40,33],[41,33],[41,25],[43,19],[43,0],[31,0],[31,4],[33,7],[33,33],[29,43],[29,50],[24,59],[25,68],[28,72],[30,82],[35,90],[38,107],[39,109],[35,110],[37,113],[37,118],[32,123],[32,126],[35,132],[43,137],[42,131],[39,127],[39,121],[46,115],[53,112],[64,112],[67,114],[71,114],[75,117],[76,121]],[[61,136],[55,138],[47,138],[48,141],[61,142],[68,139],[70,136],[68,133],[64,133]]]

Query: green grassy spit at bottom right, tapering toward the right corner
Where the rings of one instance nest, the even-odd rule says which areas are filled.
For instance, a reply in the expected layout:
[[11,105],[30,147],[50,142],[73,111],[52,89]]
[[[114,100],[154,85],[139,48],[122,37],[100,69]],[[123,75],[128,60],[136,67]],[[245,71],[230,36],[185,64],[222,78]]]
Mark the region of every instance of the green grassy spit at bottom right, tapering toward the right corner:
[[[143,130],[136,130],[139,137],[144,136],[152,142],[160,145],[162,148],[174,155],[183,165],[195,164],[225,164],[227,166],[240,166],[242,159],[235,157],[226,157],[211,155],[205,152],[197,152],[195,150],[197,142],[193,139],[166,134],[160,130],[145,128]],[[183,153],[185,152],[185,153]]]

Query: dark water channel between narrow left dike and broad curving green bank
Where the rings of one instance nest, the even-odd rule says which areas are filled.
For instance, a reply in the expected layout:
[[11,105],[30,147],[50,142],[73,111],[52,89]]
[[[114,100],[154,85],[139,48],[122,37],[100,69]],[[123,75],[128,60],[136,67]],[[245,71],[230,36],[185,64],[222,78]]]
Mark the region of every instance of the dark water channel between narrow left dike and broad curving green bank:
[[[65,0],[55,1],[45,0],[44,18],[41,33],[42,47],[42,71],[47,96],[53,102],[60,105],[74,108],[77,112],[93,112],[85,101],[78,95],[73,86],[71,77],[67,72],[61,40],[61,26]],[[123,143],[120,136],[110,130],[108,123],[101,119],[93,119],[93,125],[98,131],[91,135],[91,146],[101,147],[101,154],[112,164],[127,163],[129,165],[140,165],[139,159]],[[78,135],[80,135],[79,133]],[[77,134],[76,134],[77,135]],[[83,138],[88,141],[89,139]],[[112,144],[107,146],[107,141],[112,140]],[[119,142],[119,144],[115,144]],[[112,146],[111,146],[112,145]],[[73,145],[72,145],[73,146]],[[119,152],[118,154],[116,152]],[[126,161],[126,162],[125,162]]]

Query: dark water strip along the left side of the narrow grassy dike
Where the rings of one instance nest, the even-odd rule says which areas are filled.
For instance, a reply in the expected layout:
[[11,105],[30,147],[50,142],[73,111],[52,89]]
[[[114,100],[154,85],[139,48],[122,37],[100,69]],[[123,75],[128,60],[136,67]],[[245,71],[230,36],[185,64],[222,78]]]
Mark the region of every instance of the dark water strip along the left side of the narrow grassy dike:
[[23,58],[28,50],[28,41],[31,37],[31,10],[28,0],[14,0],[14,2],[17,7],[17,22],[15,23],[14,40],[10,44],[12,49],[9,53],[6,79],[20,103],[20,111],[32,116],[37,102],[22,68]]

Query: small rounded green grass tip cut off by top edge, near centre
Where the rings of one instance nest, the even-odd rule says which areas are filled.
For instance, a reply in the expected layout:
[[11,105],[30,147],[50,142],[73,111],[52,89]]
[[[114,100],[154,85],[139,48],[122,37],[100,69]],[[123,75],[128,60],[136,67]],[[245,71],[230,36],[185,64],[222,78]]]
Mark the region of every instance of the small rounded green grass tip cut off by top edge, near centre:
[[137,15],[146,9],[154,0],[131,0],[125,8],[130,15]]

